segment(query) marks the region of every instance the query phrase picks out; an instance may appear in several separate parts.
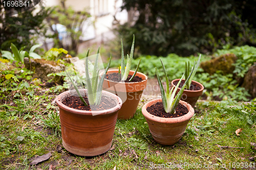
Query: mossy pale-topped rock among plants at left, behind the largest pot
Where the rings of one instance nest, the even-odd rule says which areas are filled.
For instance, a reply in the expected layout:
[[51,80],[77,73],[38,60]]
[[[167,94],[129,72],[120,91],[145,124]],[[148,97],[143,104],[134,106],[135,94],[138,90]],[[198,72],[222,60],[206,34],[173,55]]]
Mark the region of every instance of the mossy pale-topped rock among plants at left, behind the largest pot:
[[48,81],[53,79],[53,76],[47,77],[48,74],[61,72],[65,70],[65,65],[57,64],[54,61],[45,59],[30,59],[31,66],[29,63],[29,58],[24,58],[24,64],[27,69],[31,69],[34,72],[33,78]]

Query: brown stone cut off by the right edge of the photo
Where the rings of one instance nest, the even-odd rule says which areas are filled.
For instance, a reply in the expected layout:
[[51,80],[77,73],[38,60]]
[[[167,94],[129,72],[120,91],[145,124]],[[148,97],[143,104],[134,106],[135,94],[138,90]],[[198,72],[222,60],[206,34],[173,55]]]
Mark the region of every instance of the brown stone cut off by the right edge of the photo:
[[252,65],[244,77],[242,87],[247,89],[253,98],[256,98],[256,65]]

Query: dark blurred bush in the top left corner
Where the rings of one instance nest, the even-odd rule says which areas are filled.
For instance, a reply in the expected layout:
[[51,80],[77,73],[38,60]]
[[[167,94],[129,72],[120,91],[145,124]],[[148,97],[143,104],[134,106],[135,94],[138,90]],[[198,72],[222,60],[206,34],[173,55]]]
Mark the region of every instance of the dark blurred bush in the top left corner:
[[1,50],[10,51],[11,43],[14,43],[17,48],[25,45],[32,46],[33,41],[37,40],[37,36],[45,36],[47,28],[44,20],[51,14],[52,10],[46,8],[42,2],[37,6],[40,7],[38,9],[31,8],[15,16],[5,15],[3,5],[0,6]]

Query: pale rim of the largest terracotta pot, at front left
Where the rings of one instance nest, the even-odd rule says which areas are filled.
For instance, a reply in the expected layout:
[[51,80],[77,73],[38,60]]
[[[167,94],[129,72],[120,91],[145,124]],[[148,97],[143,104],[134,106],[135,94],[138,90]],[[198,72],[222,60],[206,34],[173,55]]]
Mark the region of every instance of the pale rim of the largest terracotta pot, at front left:
[[[87,89],[79,89],[79,90],[84,90],[84,91],[87,91]],[[103,91],[102,90],[102,93],[105,94],[106,96],[111,96],[113,100],[115,100],[115,102],[117,103],[117,105],[113,108],[110,108],[110,109],[106,109],[106,110],[98,110],[98,111],[87,111],[87,110],[78,110],[78,109],[73,109],[71,107],[68,107],[66,105],[64,105],[62,102],[61,102],[61,99],[63,99],[65,96],[67,96],[68,94],[70,94],[70,91],[71,90],[68,90],[68,91],[65,91],[65,92],[62,92],[60,93],[56,99],[54,100],[58,107],[60,107],[61,109],[63,110],[66,110],[66,111],[69,111],[69,112],[72,112],[72,113],[76,113],[76,114],[83,114],[83,115],[98,115],[98,114],[109,114],[109,113],[113,113],[115,111],[118,111],[121,106],[122,106],[122,100],[115,94],[112,94],[111,92],[108,92],[108,91]]]

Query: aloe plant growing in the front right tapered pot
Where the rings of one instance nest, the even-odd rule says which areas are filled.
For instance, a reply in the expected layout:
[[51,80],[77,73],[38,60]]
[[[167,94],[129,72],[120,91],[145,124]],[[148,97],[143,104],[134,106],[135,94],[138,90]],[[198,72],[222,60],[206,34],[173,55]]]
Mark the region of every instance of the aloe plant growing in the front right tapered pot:
[[173,114],[175,112],[175,109],[177,108],[177,106],[179,104],[181,95],[182,95],[182,93],[183,93],[183,91],[185,89],[185,84],[190,80],[190,78],[191,78],[191,76],[193,74],[193,71],[195,70],[195,64],[194,64],[194,67],[192,68],[189,76],[187,77],[187,80],[185,81],[184,85],[181,87],[180,91],[178,92],[178,94],[175,97],[175,93],[176,93],[176,91],[177,91],[177,89],[178,89],[178,87],[180,85],[181,80],[184,77],[184,74],[181,77],[181,79],[178,82],[178,84],[176,86],[174,86],[171,90],[169,90],[168,76],[166,74],[166,70],[165,70],[165,67],[164,67],[164,64],[163,64],[162,60],[161,60],[161,63],[162,63],[162,67],[163,67],[163,71],[164,71],[164,76],[165,76],[165,80],[166,80],[166,92],[164,91],[163,84],[162,84],[161,79],[160,79],[160,77],[158,75],[157,68],[156,68],[156,74],[157,74],[157,80],[158,80],[158,83],[159,83],[159,86],[160,86],[160,90],[161,90],[163,107],[164,107],[164,111],[166,113]]

